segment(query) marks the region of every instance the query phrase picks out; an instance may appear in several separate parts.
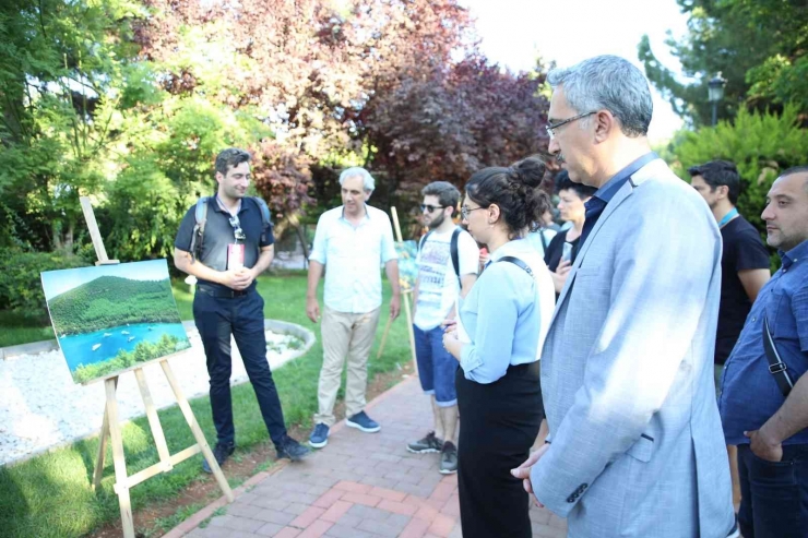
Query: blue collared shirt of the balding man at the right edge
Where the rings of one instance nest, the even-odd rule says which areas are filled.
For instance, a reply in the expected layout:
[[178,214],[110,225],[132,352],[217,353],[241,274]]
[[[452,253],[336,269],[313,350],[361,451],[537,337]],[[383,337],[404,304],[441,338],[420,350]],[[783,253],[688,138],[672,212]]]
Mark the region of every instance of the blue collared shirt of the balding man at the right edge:
[[[808,370],[808,241],[781,252],[783,266],[758,294],[738,343],[727,359],[718,408],[727,444],[748,444],[744,431],[760,429],[785,398],[769,373],[763,319],[792,381]],[[783,444],[808,443],[808,429]]]

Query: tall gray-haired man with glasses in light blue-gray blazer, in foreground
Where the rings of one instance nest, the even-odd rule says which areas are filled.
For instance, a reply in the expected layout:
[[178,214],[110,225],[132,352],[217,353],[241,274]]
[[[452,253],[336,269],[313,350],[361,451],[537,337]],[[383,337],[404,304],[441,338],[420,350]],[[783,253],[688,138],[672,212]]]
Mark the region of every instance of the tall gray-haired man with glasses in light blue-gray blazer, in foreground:
[[513,475],[570,538],[737,535],[713,386],[718,227],[651,152],[637,68],[602,56],[548,80],[549,151],[598,190],[542,355],[550,435]]

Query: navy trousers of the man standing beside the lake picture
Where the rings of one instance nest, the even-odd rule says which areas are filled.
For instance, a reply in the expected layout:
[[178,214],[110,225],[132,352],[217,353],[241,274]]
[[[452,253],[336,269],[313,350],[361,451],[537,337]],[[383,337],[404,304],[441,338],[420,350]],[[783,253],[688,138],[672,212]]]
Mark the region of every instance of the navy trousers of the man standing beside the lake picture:
[[233,298],[213,297],[198,288],[193,298],[193,319],[211,376],[213,425],[216,438],[223,444],[233,443],[236,439],[230,399],[230,335],[241,352],[270,439],[276,446],[286,439],[281,400],[266,360],[263,310],[264,300],[254,288],[247,295]]

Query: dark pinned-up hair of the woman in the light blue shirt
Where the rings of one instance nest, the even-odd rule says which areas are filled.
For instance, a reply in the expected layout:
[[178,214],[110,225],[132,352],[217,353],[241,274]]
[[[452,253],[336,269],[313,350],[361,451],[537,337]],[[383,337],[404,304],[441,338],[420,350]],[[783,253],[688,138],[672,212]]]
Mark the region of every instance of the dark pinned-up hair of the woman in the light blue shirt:
[[465,191],[480,207],[497,204],[510,236],[518,237],[525,228],[536,231],[550,208],[549,196],[539,188],[546,171],[544,160],[527,157],[508,168],[492,166],[475,172]]

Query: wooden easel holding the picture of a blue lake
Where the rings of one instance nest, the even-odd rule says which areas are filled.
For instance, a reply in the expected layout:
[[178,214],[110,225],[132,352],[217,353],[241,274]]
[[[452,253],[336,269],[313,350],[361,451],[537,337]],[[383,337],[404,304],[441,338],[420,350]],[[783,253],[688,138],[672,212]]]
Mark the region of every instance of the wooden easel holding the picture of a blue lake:
[[[104,248],[104,241],[102,240],[100,232],[98,231],[98,224],[95,222],[95,214],[93,213],[93,206],[90,203],[90,199],[86,196],[82,196],[81,205],[82,211],[84,212],[84,218],[87,222],[87,228],[90,228],[90,236],[93,239],[95,254],[98,258],[98,261],[95,262],[95,264],[115,265],[119,263],[118,260],[109,260],[109,258],[107,258],[107,250]],[[134,521],[132,519],[132,505],[129,498],[129,490],[140,482],[147,480],[155,475],[158,475],[159,473],[168,473],[174,468],[175,465],[178,465],[180,462],[183,462],[189,457],[195,456],[200,452],[202,452],[202,455],[207,461],[207,464],[211,466],[211,470],[213,470],[213,476],[216,478],[216,482],[218,482],[218,487],[222,489],[222,492],[224,492],[227,501],[233,502],[235,499],[233,495],[233,491],[230,490],[230,486],[227,483],[227,479],[222,473],[216,458],[213,457],[213,452],[211,452],[211,447],[207,445],[205,435],[204,433],[202,433],[202,429],[200,429],[199,423],[197,422],[197,417],[193,416],[193,410],[191,410],[191,406],[188,405],[188,399],[186,399],[185,395],[182,394],[182,390],[177,383],[177,379],[174,376],[171,367],[168,364],[168,359],[170,357],[180,356],[185,352],[187,351],[179,351],[177,354],[171,354],[167,357],[158,359],[159,366],[161,368],[163,368],[163,373],[165,373],[166,379],[168,380],[168,384],[171,385],[174,395],[177,398],[177,404],[182,410],[182,415],[186,417],[186,421],[191,428],[191,432],[193,432],[193,437],[197,440],[197,444],[191,445],[188,449],[180,451],[174,455],[168,452],[166,438],[163,434],[163,427],[161,426],[159,417],[157,416],[157,408],[154,406],[152,394],[148,392],[146,376],[143,374],[143,366],[145,366],[146,363],[133,367],[123,372],[118,372],[115,375],[100,378],[104,379],[104,383],[106,385],[107,403],[104,409],[104,425],[102,426],[100,442],[98,443],[98,459],[95,463],[95,473],[93,474],[93,489],[97,491],[100,488],[102,476],[104,475],[104,458],[107,451],[107,435],[109,435],[112,440],[115,492],[118,494],[118,502],[120,504],[121,525],[123,527],[124,538],[134,538]],[[157,445],[157,454],[159,455],[159,463],[156,463],[151,467],[147,467],[140,473],[135,473],[131,476],[127,475],[127,461],[123,454],[123,439],[121,437],[121,429],[118,418],[118,400],[116,399],[115,395],[116,388],[118,387],[118,376],[121,373],[126,373],[129,371],[134,372],[134,378],[138,381],[141,396],[143,396],[143,405],[146,408],[148,426],[152,429],[152,437],[154,438],[154,442]],[[95,381],[99,380],[93,380],[88,383]]]

